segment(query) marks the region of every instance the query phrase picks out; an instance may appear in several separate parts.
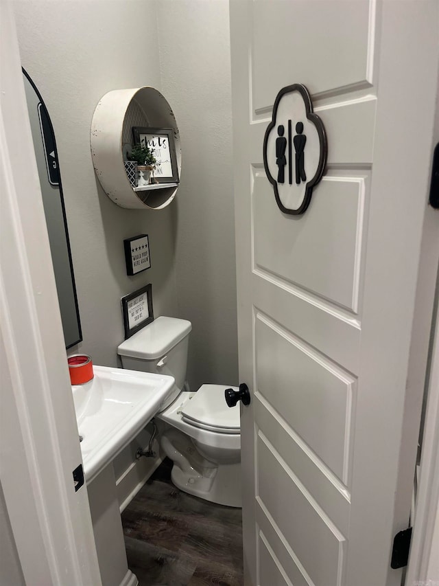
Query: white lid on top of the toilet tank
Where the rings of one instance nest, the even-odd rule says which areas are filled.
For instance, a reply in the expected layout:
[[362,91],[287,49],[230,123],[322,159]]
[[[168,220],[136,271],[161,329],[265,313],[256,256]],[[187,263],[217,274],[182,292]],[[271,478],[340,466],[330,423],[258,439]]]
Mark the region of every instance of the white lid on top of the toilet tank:
[[119,344],[117,353],[120,356],[154,360],[174,348],[191,329],[192,324],[187,319],[162,315]]

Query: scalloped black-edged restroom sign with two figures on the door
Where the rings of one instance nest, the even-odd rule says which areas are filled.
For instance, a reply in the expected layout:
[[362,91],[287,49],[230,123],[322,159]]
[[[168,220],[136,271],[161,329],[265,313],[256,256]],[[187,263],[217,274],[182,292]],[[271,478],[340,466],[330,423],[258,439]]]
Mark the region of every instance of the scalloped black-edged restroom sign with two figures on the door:
[[263,141],[263,164],[285,214],[303,214],[327,163],[327,136],[302,84],[279,91]]

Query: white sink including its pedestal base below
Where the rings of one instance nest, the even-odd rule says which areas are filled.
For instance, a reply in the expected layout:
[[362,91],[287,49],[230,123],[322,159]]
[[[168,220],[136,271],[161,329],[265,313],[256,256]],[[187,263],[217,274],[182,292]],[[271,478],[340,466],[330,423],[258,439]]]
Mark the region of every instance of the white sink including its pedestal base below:
[[135,586],[128,570],[112,460],[145,427],[174,387],[172,376],[94,366],[72,387],[103,586]]

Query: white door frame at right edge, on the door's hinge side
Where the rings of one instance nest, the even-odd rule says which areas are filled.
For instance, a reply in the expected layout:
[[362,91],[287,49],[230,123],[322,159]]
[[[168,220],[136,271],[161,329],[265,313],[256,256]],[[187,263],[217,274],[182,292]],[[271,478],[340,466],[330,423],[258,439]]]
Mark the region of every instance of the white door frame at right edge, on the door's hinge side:
[[[431,145],[433,150],[439,142],[439,69],[436,89],[436,120]],[[431,177],[430,177],[431,181]],[[405,585],[425,583],[425,586],[439,585],[439,210],[427,206],[424,216],[423,240],[421,243],[418,286],[416,291],[415,319],[410,348],[411,372],[416,372],[414,361],[419,356],[427,359],[418,363],[417,382],[425,387],[427,405],[425,420],[416,508],[412,519],[412,543],[410,558],[405,575]],[[436,274],[435,274],[436,273]],[[434,297],[436,295],[436,297]],[[432,307],[431,315],[425,307]],[[436,313],[436,315],[435,315]],[[429,319],[429,323],[425,322]],[[418,339],[420,330],[431,328],[429,341]],[[427,343],[429,342],[429,349]],[[424,346],[424,348],[422,348]],[[436,583],[430,581],[436,581]]]

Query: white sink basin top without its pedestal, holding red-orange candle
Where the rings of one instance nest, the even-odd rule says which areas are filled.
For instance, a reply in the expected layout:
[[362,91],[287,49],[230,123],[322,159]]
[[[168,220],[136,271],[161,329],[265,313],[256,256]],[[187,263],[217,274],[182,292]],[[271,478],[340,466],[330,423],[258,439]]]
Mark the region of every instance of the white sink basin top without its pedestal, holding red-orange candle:
[[165,374],[93,366],[94,379],[73,385],[82,462],[91,482],[145,427],[174,387]]

